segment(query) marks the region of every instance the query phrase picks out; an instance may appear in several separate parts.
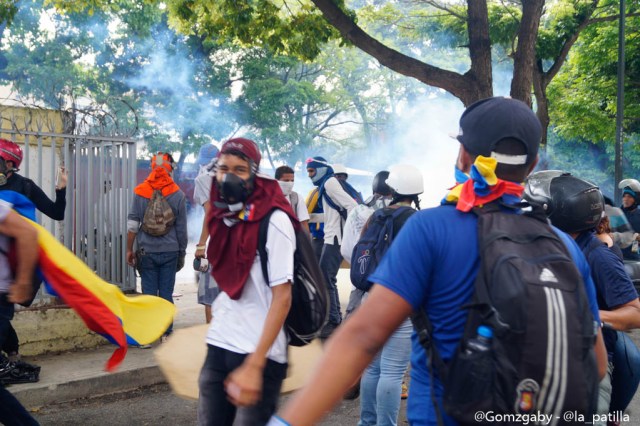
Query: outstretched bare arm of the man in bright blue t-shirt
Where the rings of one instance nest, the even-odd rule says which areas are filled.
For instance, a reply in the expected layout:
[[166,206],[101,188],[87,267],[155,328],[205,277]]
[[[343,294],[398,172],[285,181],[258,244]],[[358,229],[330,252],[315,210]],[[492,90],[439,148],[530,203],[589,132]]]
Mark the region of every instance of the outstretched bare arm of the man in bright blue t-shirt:
[[360,377],[389,336],[411,314],[411,305],[376,285],[367,302],[327,341],[304,387],[280,410],[293,426],[316,424]]

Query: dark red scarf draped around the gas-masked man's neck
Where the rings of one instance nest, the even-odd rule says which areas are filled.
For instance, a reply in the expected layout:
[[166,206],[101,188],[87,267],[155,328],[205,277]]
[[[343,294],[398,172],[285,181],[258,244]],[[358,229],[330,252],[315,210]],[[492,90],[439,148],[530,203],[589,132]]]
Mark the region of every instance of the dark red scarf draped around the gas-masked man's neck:
[[[253,192],[239,214],[230,216],[229,210],[215,206],[214,201],[220,200],[215,180],[211,185],[209,199],[211,211],[207,217],[210,236],[207,259],[211,264],[211,275],[222,291],[237,300],[242,295],[256,257],[262,218],[271,210],[280,209],[289,215],[295,229],[298,229],[300,222],[282,194],[278,182],[268,177],[255,177]],[[228,226],[224,223],[225,217],[240,221]]]

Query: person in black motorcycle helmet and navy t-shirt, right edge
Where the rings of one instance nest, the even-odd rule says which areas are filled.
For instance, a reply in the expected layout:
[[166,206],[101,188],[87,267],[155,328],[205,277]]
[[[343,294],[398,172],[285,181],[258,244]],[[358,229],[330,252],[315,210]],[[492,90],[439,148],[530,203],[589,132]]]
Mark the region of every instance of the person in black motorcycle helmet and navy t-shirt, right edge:
[[[541,202],[548,212],[551,223],[576,241],[591,269],[600,318],[607,324],[602,335],[607,349],[608,374],[600,382],[598,392],[598,414],[606,416],[610,412],[613,374],[616,372],[613,362],[616,342],[623,338],[619,332],[640,328],[638,292],[624,269],[622,259],[595,235],[594,230],[604,211],[604,197],[597,186],[569,173],[548,170],[530,176],[524,197],[531,203],[535,202],[530,195],[532,193],[536,194],[535,201]],[[626,367],[627,362],[622,364],[625,365],[618,367]],[[637,373],[626,374],[617,385],[618,391],[625,389],[619,393],[627,403],[638,387],[637,376]]]

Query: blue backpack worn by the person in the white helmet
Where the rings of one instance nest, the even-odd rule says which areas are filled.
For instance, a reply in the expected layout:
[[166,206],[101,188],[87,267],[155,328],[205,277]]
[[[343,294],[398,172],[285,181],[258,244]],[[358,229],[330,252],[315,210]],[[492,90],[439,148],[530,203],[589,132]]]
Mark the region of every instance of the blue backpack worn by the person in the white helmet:
[[376,210],[351,254],[351,283],[362,291],[369,291],[369,275],[378,267],[395,235],[415,213],[411,207],[386,207]]

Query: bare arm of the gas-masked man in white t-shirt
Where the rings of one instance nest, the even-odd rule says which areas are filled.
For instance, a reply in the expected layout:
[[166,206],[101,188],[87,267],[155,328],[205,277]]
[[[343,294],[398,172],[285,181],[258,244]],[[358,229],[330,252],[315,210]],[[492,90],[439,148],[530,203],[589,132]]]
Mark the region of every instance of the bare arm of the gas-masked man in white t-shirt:
[[267,363],[267,352],[282,330],[291,307],[291,283],[271,288],[273,299],[255,352],[247,355],[240,367],[225,380],[225,389],[231,402],[237,406],[254,405],[262,393],[262,374]]

